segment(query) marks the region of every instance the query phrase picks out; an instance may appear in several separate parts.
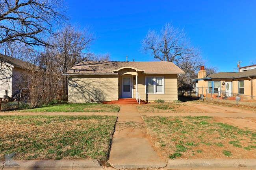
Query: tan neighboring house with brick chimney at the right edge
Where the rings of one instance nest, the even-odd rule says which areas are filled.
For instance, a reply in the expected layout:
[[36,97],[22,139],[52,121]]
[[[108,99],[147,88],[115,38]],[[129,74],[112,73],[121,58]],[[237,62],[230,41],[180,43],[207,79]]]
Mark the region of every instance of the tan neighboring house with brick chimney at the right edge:
[[198,79],[193,79],[198,95],[256,99],[256,68],[241,72],[219,72],[206,75],[204,66],[198,71]]

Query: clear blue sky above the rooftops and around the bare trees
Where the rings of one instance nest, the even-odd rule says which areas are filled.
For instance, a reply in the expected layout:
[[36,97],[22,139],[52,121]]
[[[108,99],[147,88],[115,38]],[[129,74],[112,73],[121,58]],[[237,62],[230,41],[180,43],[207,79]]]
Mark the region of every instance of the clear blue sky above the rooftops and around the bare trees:
[[185,28],[199,46],[206,66],[233,71],[256,58],[256,0],[67,0],[71,22],[90,26],[96,40],[91,52],[111,60],[152,61],[141,53],[149,29],[168,22]]

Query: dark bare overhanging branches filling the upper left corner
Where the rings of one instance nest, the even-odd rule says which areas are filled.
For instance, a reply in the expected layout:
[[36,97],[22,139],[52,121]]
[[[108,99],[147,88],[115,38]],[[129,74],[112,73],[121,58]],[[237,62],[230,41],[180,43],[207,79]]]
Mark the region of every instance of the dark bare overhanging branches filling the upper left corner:
[[0,0],[0,44],[48,46],[45,37],[67,18],[62,0]]

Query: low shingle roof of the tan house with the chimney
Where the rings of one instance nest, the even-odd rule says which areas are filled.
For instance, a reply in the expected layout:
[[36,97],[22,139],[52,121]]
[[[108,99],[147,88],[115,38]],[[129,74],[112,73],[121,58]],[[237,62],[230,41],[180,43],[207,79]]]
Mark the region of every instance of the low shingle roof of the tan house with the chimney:
[[[243,77],[254,77],[256,76],[256,68],[250,69],[243,72],[219,72],[207,75],[206,77],[203,77],[202,79],[237,79],[237,78],[243,78]],[[193,79],[198,80],[198,79]]]

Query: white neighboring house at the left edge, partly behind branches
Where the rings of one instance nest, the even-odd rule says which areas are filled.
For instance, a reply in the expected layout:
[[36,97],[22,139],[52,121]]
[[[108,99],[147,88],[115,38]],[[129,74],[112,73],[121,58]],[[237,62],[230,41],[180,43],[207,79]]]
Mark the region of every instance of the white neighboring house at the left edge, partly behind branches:
[[28,91],[28,70],[33,64],[0,54],[0,98],[6,90],[13,97],[19,91]]

